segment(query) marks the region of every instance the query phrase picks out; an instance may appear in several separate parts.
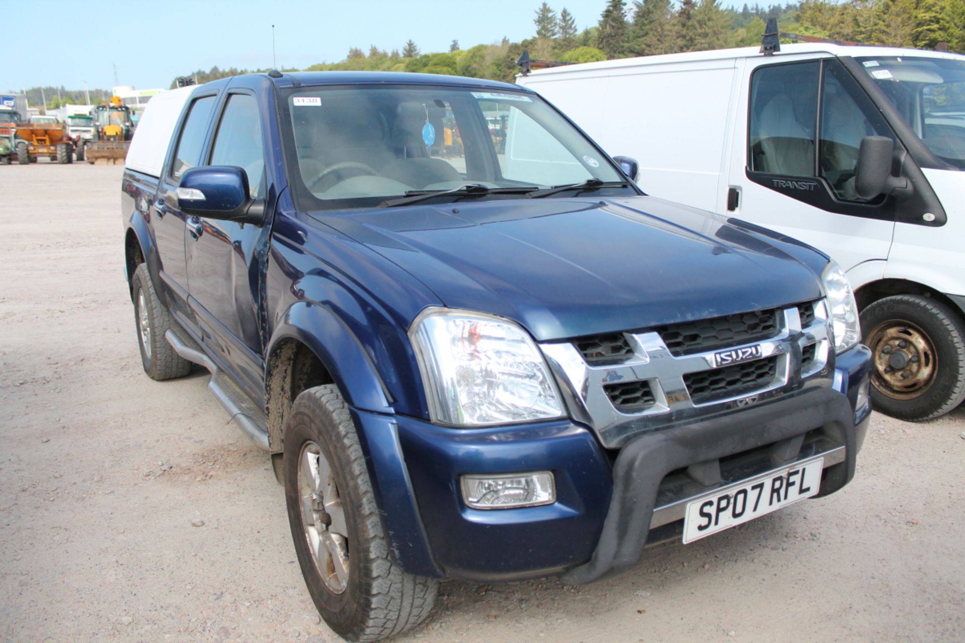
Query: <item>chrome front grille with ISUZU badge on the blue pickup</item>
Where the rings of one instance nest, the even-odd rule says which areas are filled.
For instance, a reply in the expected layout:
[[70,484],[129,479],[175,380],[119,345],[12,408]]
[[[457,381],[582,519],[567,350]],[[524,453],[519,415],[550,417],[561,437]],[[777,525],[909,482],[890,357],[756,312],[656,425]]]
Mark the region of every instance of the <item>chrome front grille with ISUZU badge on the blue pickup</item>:
[[[753,314],[753,323],[743,324],[742,328],[752,329],[750,334],[724,346],[717,345],[721,335],[715,331],[718,339],[713,342],[706,342],[707,335],[702,335],[699,340],[684,342],[688,348],[682,351],[682,344],[672,349],[667,339],[674,336],[661,332],[666,334],[674,327],[665,326],[545,342],[539,347],[560,384],[570,415],[592,426],[604,446],[619,448],[640,433],[731,409],[727,405],[762,402],[813,380],[819,386],[830,386],[828,368],[833,365],[834,351],[823,300],[763,312]],[[809,314],[813,314],[812,323],[805,326],[802,321],[807,321]],[[675,326],[679,333],[679,325]],[[758,332],[769,336],[754,338]],[[748,336],[752,339],[747,340]],[[590,350],[588,340],[595,342]],[[697,345],[711,348],[689,352]],[[725,367],[716,363],[717,351],[752,346],[759,349],[754,360]]]

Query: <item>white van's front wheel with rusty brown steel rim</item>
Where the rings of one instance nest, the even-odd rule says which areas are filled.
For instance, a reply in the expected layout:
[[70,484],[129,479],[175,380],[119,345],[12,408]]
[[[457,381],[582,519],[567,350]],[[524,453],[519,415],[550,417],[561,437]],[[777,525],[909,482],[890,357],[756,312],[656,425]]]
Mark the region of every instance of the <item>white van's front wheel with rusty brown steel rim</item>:
[[965,323],[920,295],[878,300],[861,312],[874,356],[873,408],[909,421],[945,415],[965,398]]

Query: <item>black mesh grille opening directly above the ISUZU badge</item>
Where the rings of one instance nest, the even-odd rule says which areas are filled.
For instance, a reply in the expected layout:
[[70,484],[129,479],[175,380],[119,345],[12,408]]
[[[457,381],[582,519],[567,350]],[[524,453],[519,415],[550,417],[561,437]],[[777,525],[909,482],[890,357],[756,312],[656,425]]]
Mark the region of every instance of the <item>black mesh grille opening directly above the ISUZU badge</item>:
[[658,326],[653,330],[660,334],[671,354],[680,357],[773,337],[779,330],[778,315],[777,308],[769,308]]

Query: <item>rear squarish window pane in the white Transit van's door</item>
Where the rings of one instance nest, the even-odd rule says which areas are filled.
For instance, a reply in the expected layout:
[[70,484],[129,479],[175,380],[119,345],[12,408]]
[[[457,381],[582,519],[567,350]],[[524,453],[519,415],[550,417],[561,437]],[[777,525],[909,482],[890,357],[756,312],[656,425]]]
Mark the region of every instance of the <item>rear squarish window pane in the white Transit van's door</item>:
[[814,175],[820,63],[760,67],[751,78],[752,172]]

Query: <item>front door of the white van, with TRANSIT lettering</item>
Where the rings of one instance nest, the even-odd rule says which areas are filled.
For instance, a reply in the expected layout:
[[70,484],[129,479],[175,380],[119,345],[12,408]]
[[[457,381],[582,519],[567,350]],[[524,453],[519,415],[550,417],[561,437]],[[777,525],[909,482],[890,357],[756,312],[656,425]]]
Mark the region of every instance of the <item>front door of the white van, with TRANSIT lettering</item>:
[[811,244],[845,270],[886,259],[894,203],[854,189],[861,140],[896,140],[869,97],[835,58],[752,59],[745,79],[727,214]]

